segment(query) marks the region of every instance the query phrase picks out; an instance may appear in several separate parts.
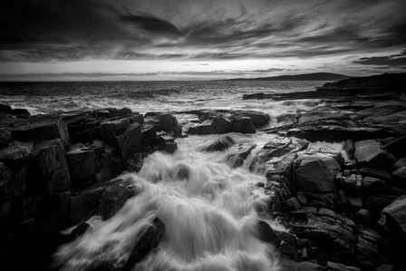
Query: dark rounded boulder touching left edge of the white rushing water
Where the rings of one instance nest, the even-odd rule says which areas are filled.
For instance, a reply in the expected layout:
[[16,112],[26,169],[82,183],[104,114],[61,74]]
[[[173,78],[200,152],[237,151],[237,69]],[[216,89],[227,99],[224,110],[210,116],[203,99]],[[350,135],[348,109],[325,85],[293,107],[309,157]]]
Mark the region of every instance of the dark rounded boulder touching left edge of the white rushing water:
[[130,181],[121,181],[104,189],[96,214],[104,220],[114,216],[125,204],[127,199],[133,197],[134,186]]

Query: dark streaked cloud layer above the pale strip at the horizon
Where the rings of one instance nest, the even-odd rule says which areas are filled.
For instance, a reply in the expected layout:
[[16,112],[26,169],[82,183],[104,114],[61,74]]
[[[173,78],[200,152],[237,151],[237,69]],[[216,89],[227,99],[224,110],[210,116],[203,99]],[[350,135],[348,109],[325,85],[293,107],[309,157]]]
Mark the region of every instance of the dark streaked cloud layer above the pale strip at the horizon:
[[406,46],[405,10],[404,0],[5,0],[0,61],[376,53]]

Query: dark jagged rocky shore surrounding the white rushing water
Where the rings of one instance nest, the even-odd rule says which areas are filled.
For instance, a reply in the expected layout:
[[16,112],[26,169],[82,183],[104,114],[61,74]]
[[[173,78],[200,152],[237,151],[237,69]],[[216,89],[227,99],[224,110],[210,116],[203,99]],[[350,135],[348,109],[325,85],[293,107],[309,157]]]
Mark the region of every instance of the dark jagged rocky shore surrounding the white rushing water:
[[[45,270],[55,248],[82,235],[93,215],[111,218],[137,189],[125,171],[139,171],[156,150],[177,149],[186,134],[276,134],[256,152],[250,169],[266,174],[268,208],[258,221],[285,270],[404,270],[406,260],[406,74],[326,83],[316,92],[244,95],[297,102],[317,99],[311,111],[270,120],[258,111],[149,112],[129,109],[30,116],[0,105],[0,255],[14,270]],[[180,125],[175,116],[195,115]],[[275,125],[269,125],[269,122]],[[314,141],[340,142],[339,151]],[[232,134],[207,151],[231,149],[240,167],[256,142]],[[61,230],[74,227],[68,234]],[[165,225],[155,218],[123,266],[131,270],[157,247]],[[112,270],[96,266],[94,270]]]

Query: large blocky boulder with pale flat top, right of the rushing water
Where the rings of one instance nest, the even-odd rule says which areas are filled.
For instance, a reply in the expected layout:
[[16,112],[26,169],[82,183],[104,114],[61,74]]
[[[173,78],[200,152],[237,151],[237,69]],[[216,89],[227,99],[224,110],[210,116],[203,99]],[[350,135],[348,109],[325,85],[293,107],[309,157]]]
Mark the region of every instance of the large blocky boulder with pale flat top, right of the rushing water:
[[295,185],[307,192],[328,193],[336,188],[338,171],[341,167],[332,155],[304,154],[295,161]]

